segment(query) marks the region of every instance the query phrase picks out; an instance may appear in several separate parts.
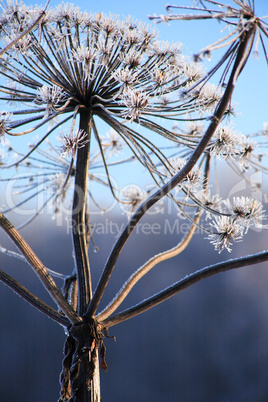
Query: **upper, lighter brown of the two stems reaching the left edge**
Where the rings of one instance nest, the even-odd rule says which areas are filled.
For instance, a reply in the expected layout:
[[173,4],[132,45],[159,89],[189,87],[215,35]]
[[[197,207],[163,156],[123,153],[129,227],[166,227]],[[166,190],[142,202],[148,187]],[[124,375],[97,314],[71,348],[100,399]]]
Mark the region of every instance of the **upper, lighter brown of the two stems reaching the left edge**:
[[42,262],[30,248],[28,243],[26,243],[23,237],[15,229],[15,227],[9,222],[9,220],[2,213],[0,213],[0,226],[4,229],[4,231],[10,237],[10,239],[22,252],[25,259],[34,269],[36,275],[39,277],[39,279],[41,280],[42,284],[44,285],[44,287],[46,288],[52,299],[56,302],[56,304],[63,311],[63,313],[68,317],[71,323],[75,324],[80,322],[81,318],[76,314],[76,312],[65,300],[60,289],[58,288],[52,276],[48,273],[47,269],[44,267]]

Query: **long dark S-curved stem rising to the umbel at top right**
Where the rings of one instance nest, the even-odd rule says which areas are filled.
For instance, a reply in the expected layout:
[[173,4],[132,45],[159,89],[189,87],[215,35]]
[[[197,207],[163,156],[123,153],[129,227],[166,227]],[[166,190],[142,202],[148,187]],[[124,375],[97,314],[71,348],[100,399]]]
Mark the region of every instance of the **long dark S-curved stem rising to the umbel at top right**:
[[[102,298],[102,295],[105,291],[105,288],[109,282],[110,276],[114,269],[115,263],[119,257],[119,254],[122,251],[126,241],[130,237],[130,235],[133,232],[137,223],[140,221],[140,219],[148,211],[149,208],[151,208],[157,201],[159,201],[166,194],[168,194],[175,186],[177,186],[184,179],[184,177],[195,166],[196,162],[198,161],[198,159],[200,158],[200,156],[206,149],[211,137],[215,133],[215,130],[217,129],[217,127],[224,115],[225,110],[227,109],[227,107],[229,105],[229,102],[231,100],[231,97],[232,97],[232,94],[233,94],[233,91],[235,88],[236,79],[244,67],[244,62],[246,61],[244,59],[244,55],[247,51],[247,45],[248,45],[248,41],[251,37],[251,34],[252,34],[252,32],[248,31],[241,38],[241,42],[240,42],[238,50],[237,50],[236,59],[235,59],[234,66],[233,66],[233,69],[231,71],[231,74],[230,74],[230,77],[228,80],[227,87],[224,91],[224,94],[223,94],[221,100],[219,101],[219,103],[215,109],[211,123],[209,124],[205,134],[203,135],[201,141],[199,142],[198,146],[194,150],[189,161],[175,176],[172,177],[172,179],[168,183],[166,183],[155,194],[153,194],[151,197],[149,197],[148,200],[146,200],[137,209],[135,214],[130,219],[130,222],[125,226],[123,232],[121,233],[121,236],[118,238],[117,242],[115,243],[115,245],[110,253],[110,256],[108,258],[108,261],[106,263],[106,266],[104,268],[104,271],[102,273],[102,276],[99,280],[96,291],[93,295],[91,303],[88,307],[88,310],[86,313],[88,316],[93,316],[95,314],[95,312],[98,308],[99,302]],[[243,61],[243,63],[241,63],[241,61]]]

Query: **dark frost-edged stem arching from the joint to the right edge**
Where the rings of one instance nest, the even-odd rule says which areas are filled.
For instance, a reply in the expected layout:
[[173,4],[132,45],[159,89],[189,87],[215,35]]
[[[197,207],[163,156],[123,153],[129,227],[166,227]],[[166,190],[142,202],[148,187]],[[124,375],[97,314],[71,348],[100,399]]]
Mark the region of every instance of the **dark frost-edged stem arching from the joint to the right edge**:
[[162,292],[159,292],[157,295],[150,297],[147,300],[137,304],[134,307],[131,307],[114,317],[108,318],[104,320],[101,325],[103,328],[109,328],[113,325],[119,324],[120,322],[126,321],[132,317],[135,317],[138,314],[143,313],[144,311],[149,310],[152,307],[157,306],[157,304],[162,303],[163,301],[169,299],[175,294],[179,293],[181,290],[192,286],[193,284],[201,281],[202,279],[209,278],[210,276],[216,275],[220,272],[229,271],[235,268],[242,268],[248,265],[259,264],[261,262],[268,260],[268,251],[263,251],[258,254],[248,255],[242,258],[236,258],[234,260],[228,260],[224,262],[220,262],[215,265],[211,265],[209,267],[205,267],[200,269],[199,271],[194,272],[191,275],[186,276],[180,281],[174,283],[172,286],[166,288]]

